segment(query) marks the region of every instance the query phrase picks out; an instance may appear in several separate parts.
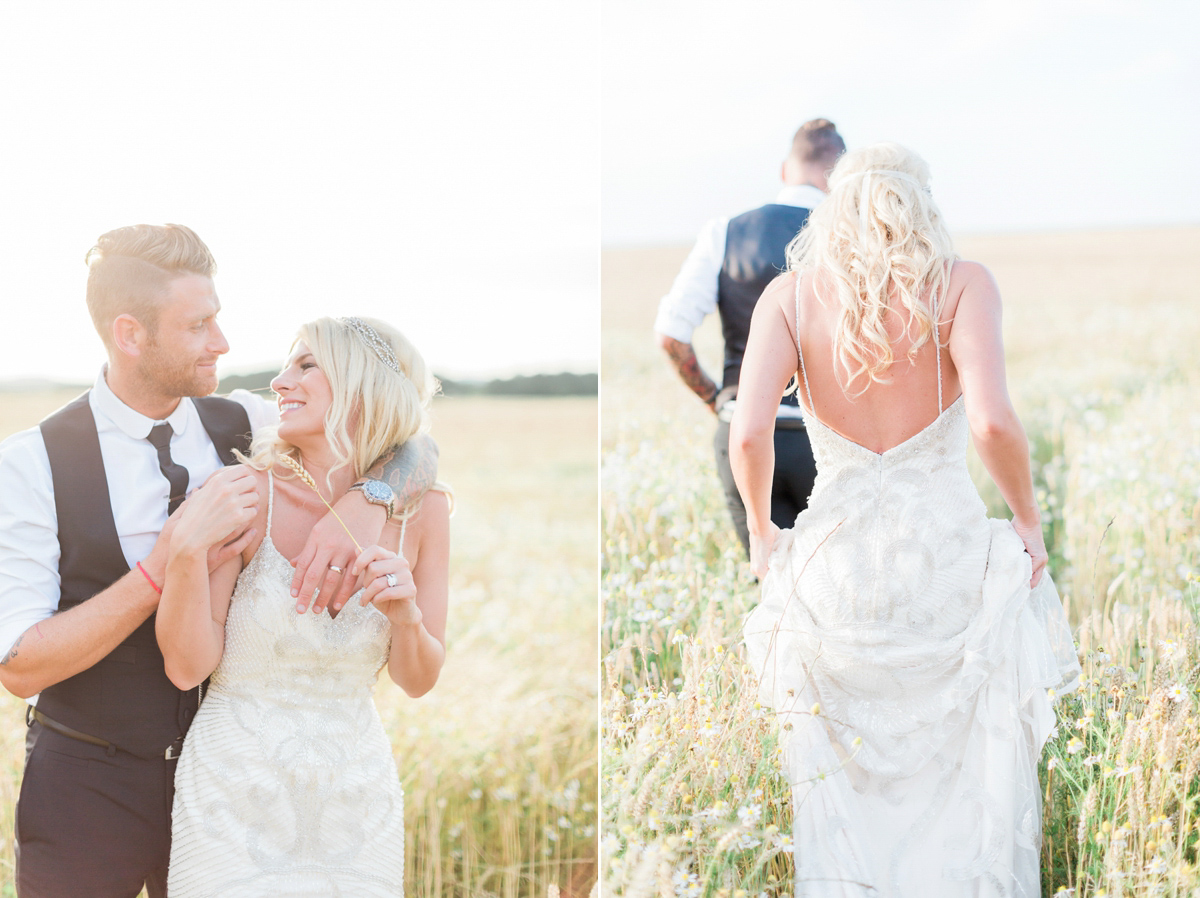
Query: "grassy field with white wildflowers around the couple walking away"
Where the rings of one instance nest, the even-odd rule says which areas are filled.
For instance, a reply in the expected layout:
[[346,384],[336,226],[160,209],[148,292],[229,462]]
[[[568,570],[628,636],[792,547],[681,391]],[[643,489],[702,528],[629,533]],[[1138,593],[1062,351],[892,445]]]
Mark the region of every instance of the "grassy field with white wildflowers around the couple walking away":
[[[1004,299],[1050,570],[1084,666],[1042,758],[1043,892],[1200,894],[1200,228],[960,239]],[[790,896],[791,794],[712,414],[652,334],[686,253],[602,258],[601,869],[612,896]],[[719,371],[714,319],[696,335]],[[982,465],[994,516],[1008,516]]]

